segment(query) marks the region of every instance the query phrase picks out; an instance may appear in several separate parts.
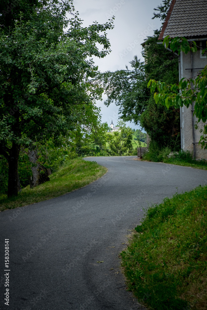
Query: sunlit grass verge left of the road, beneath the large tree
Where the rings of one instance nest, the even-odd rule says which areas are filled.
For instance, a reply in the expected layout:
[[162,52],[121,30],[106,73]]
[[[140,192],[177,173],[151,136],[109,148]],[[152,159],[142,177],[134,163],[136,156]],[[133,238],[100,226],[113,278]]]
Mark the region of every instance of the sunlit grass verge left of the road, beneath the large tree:
[[0,198],[0,211],[26,206],[64,195],[74,189],[81,188],[106,173],[107,169],[96,162],[75,158],[64,162],[58,171],[50,175],[50,181],[30,189],[29,185],[22,189],[18,197]]

